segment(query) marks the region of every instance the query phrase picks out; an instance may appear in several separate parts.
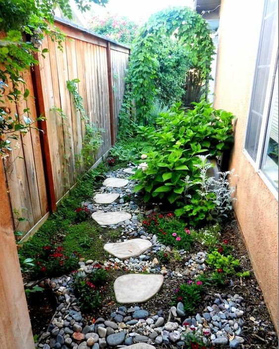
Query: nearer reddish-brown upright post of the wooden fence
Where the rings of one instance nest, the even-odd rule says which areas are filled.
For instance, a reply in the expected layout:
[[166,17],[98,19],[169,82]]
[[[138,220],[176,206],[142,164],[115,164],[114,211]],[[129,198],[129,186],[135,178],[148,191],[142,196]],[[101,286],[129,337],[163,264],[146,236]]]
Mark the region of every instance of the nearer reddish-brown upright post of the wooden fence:
[[[35,59],[39,60],[38,53],[34,55]],[[37,110],[37,115],[45,114],[45,104],[44,104],[44,91],[42,86],[41,79],[41,67],[40,65],[35,65],[33,69],[31,69],[32,82],[34,88],[35,95],[35,105]],[[55,191],[54,191],[54,183],[52,176],[52,166],[48,145],[48,137],[47,137],[47,122],[39,121],[38,127],[43,132],[40,132],[40,140],[41,140],[41,150],[42,150],[42,158],[44,164],[44,173],[46,179],[46,187],[47,187],[47,202],[48,208],[50,212],[56,210],[56,199],[55,199]]]

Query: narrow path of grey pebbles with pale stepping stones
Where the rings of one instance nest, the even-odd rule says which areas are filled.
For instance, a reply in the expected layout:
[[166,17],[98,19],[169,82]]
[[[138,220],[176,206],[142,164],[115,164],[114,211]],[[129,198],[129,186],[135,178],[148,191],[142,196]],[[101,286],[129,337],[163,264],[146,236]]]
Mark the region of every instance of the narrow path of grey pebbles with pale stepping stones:
[[[73,275],[51,279],[49,285],[58,306],[47,332],[39,340],[39,348],[126,346],[129,349],[154,349],[153,346],[161,348],[165,345],[174,349],[185,345],[187,334],[198,335],[207,345],[204,348],[210,348],[209,345],[244,348],[245,300],[241,294],[233,292],[233,288],[231,294],[216,292],[213,301],[207,301],[210,297],[205,297],[203,311],[194,316],[188,316],[179,297],[173,298],[179,285],[198,284],[195,278],[207,269],[207,252],[197,250],[189,254],[181,249],[171,268],[159,261],[159,254],[167,254],[171,248],[159,243],[156,235],[145,231],[142,218],[154,214],[157,208],[154,206],[146,212],[131,200],[137,199],[137,194],[131,196],[135,182],[127,179],[131,173],[132,167],[107,173],[93,200],[84,203],[92,212],[93,220],[104,229],[122,230],[117,242],[104,245],[109,258],[102,266],[92,259],[81,260],[77,270],[83,277],[96,268],[115,271],[115,301],[105,299],[99,317],[97,311],[84,317],[74,293]],[[176,299],[172,306],[169,306],[170,299]],[[115,308],[117,304],[119,306]],[[196,344],[192,348],[202,347]]]

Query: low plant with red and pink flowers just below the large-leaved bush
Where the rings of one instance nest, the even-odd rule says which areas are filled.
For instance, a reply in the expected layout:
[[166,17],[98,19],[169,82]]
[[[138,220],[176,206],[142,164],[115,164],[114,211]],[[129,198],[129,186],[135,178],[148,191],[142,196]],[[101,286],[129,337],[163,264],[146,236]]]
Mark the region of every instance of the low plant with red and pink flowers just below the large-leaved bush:
[[143,220],[142,224],[148,233],[156,234],[159,242],[166,246],[189,250],[193,242],[191,231],[172,212],[165,215],[154,213]]

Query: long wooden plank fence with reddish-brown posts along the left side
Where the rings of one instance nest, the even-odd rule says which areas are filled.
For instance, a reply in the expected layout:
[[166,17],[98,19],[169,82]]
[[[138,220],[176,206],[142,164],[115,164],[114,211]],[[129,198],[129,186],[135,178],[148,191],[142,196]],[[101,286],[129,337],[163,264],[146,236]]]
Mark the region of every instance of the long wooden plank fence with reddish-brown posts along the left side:
[[[6,188],[11,211],[27,218],[19,229],[36,230],[54,210],[56,203],[75,184],[77,176],[85,172],[78,161],[85,137],[85,121],[73,103],[66,82],[79,79],[79,94],[89,120],[102,128],[103,144],[93,163],[114,144],[117,135],[118,114],[124,94],[125,73],[129,49],[102,36],[64,21],[56,26],[67,36],[59,50],[46,37],[42,48],[48,49],[45,58],[38,57],[40,65],[24,72],[30,98],[17,106],[19,114],[29,107],[31,115],[44,113],[47,121],[31,130],[18,142],[4,162]],[[15,105],[8,104],[16,112]],[[65,117],[57,110],[61,109]],[[17,215],[13,212],[14,227]]]

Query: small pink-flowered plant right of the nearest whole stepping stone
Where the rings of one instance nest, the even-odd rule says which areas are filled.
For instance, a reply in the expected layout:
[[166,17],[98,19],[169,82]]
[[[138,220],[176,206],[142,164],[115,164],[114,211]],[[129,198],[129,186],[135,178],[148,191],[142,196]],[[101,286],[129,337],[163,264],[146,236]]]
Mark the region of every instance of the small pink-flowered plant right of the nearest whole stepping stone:
[[[200,280],[188,280],[175,290],[173,303],[182,302],[187,314],[193,312],[201,301],[203,284]],[[186,324],[183,324],[186,326]]]

